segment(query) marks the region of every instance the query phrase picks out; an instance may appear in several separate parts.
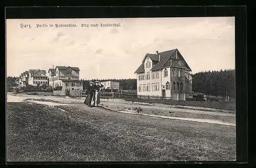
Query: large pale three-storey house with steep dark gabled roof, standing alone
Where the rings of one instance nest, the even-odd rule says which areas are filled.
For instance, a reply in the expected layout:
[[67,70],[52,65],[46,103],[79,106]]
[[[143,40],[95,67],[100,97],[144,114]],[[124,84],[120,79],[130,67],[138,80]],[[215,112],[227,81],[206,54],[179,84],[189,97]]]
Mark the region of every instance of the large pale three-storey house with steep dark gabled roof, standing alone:
[[137,94],[185,100],[192,93],[190,72],[178,49],[146,54],[135,71]]

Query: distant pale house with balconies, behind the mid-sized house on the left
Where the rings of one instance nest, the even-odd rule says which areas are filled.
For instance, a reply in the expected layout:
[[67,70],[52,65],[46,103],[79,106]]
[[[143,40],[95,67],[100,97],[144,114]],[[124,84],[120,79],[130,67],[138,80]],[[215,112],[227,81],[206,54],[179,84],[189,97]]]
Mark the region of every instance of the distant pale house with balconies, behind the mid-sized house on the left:
[[42,86],[48,84],[46,70],[29,69],[28,84],[33,86]]

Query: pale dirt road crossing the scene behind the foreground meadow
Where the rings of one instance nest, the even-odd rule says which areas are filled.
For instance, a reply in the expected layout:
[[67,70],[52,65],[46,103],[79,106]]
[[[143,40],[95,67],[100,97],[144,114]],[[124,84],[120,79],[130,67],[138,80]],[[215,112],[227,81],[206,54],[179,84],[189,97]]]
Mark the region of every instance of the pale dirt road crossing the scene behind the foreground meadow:
[[[79,108],[89,108],[83,104],[83,99],[72,99],[72,98],[65,98],[65,97],[53,97],[53,96],[43,96],[43,95],[26,95],[26,94],[17,94],[17,95],[7,95],[7,102],[22,102],[26,99],[34,99],[30,100],[34,103],[39,104],[45,104],[49,106],[74,106]],[[35,101],[36,99],[46,99],[46,100],[52,100],[60,103],[55,102],[42,102],[42,101]],[[213,112],[213,111],[202,111],[202,110],[193,110],[193,109],[181,109],[181,108],[174,108],[174,107],[159,107],[158,106],[148,106],[148,105],[140,105],[140,104],[133,104],[132,102],[125,103],[125,102],[110,102],[103,100],[101,101],[101,104],[104,106],[114,106],[114,107],[141,107],[141,108],[147,108],[147,109],[160,109],[160,110],[168,110],[173,112],[189,112],[189,113],[195,113],[195,114],[207,114],[207,115],[217,115],[217,116],[236,116],[235,114],[230,113],[223,113],[223,112]],[[99,110],[99,108],[91,108],[91,110]],[[112,108],[110,108],[112,110]],[[120,110],[120,109],[119,109]],[[114,110],[117,111],[117,110]],[[119,112],[127,112],[127,111],[119,111]],[[135,112],[131,112],[135,114]],[[200,123],[212,123],[212,124],[221,124],[221,125],[228,125],[228,126],[236,126],[235,123],[226,123],[217,121],[214,119],[206,119],[206,118],[188,118],[188,117],[174,117],[174,116],[162,116],[162,115],[154,115],[154,114],[141,114],[141,115],[147,115],[147,116],[154,116],[154,117],[162,117],[162,118],[169,118],[169,119],[180,119],[183,121],[191,121],[191,122],[200,122]]]

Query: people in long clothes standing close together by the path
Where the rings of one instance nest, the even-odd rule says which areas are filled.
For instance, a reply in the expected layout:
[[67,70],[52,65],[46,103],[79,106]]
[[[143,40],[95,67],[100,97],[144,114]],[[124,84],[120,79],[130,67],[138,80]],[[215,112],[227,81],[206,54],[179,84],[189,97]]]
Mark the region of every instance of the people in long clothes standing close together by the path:
[[100,100],[100,90],[103,87],[103,85],[99,81],[92,82],[90,81],[89,85],[86,89],[86,100],[84,101],[84,104],[86,104],[88,107],[94,107],[98,106],[99,100]]

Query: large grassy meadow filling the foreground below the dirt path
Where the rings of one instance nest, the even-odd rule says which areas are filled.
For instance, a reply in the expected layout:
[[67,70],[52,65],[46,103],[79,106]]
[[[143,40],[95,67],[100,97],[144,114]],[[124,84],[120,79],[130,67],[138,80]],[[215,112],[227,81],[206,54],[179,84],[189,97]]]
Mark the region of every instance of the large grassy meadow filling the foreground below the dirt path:
[[234,127],[77,105],[7,103],[8,161],[236,159]]

